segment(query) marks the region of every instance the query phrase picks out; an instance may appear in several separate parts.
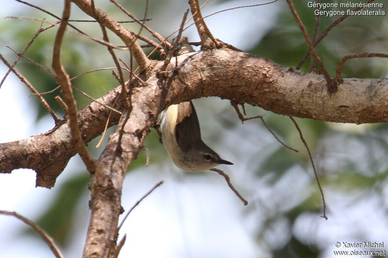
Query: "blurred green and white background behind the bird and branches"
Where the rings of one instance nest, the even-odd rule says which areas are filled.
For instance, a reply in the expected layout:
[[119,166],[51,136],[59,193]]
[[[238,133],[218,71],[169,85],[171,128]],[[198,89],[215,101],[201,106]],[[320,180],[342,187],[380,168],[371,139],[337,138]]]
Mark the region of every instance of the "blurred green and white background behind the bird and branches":
[[[63,1],[48,4],[29,0],[55,15],[62,15]],[[109,1],[95,0],[97,6],[116,20],[130,20]],[[144,16],[145,0],[119,1],[138,18]],[[201,4],[205,1],[200,1]],[[226,8],[264,2],[262,0],[212,0],[203,15]],[[328,1],[331,2],[331,1]],[[334,1],[340,2],[340,1]],[[353,1],[357,2],[357,1]],[[359,2],[359,1],[358,1]],[[376,0],[375,2],[384,1]],[[1,17],[30,17],[47,22],[56,19],[13,0],[4,0]],[[307,1],[294,1],[310,35],[315,27],[314,8]],[[187,1],[150,0],[146,24],[163,36],[180,24]],[[388,8],[382,8],[388,13]],[[320,33],[338,16],[321,17]],[[71,19],[90,19],[72,5]],[[285,1],[258,7],[235,9],[206,18],[216,38],[244,51],[295,67],[307,51],[305,40]],[[101,37],[94,23],[73,22],[82,31]],[[190,22],[188,25],[191,24]],[[11,63],[40,21],[6,18],[0,23],[0,53]],[[43,24],[43,27],[48,24]],[[124,25],[134,31],[139,26]],[[388,52],[387,16],[351,16],[334,28],[317,51],[331,76],[346,54]],[[41,33],[26,56],[50,67],[56,29]],[[142,32],[149,36],[146,31]],[[183,32],[189,41],[198,41],[194,26]],[[112,33],[113,44],[122,45]],[[143,44],[143,43],[142,43]],[[148,53],[150,49],[146,50]],[[117,54],[129,63],[128,53]],[[104,67],[113,67],[106,47],[67,32],[62,58],[70,76]],[[157,55],[152,58],[158,59]],[[309,70],[309,59],[302,70]],[[346,62],[342,76],[359,78],[387,77],[387,59],[354,59]],[[19,72],[40,92],[57,85],[47,72],[20,60]],[[7,68],[0,64],[0,77]],[[109,70],[90,73],[73,84],[98,98],[118,85]],[[44,133],[54,125],[46,110],[31,92],[10,74],[0,89],[0,142],[19,140]],[[62,115],[54,101],[55,91],[45,98]],[[75,92],[79,107],[89,100]],[[263,115],[271,130],[295,153],[284,148],[261,121],[238,119],[227,100],[216,97],[194,100],[204,141],[234,166],[220,166],[234,186],[249,201],[248,206],[227,187],[224,178],[212,171],[183,172],[168,158],[154,130],[146,138],[146,154],[129,167],[124,182],[122,206],[126,211],[156,182],[162,186],[130,213],[121,239],[127,235],[120,257],[136,258],[332,258],[336,242],[377,242],[388,245],[388,126],[376,124],[339,124],[296,119],[312,152],[323,186],[328,220],[321,218],[323,203],[308,154],[288,117],[246,106],[247,116]],[[110,130],[112,131],[113,128]],[[98,139],[89,150],[98,158],[103,147]],[[0,175],[0,210],[16,211],[37,222],[59,244],[65,257],[80,257],[89,221],[87,184],[89,175],[78,156],[57,179],[52,189],[35,188],[35,172],[18,169]],[[356,249],[362,251],[364,249]],[[371,249],[369,249],[371,250]],[[377,251],[379,249],[372,249]],[[0,216],[1,258],[53,257],[39,236],[22,222]],[[346,256],[351,257],[351,256]]]

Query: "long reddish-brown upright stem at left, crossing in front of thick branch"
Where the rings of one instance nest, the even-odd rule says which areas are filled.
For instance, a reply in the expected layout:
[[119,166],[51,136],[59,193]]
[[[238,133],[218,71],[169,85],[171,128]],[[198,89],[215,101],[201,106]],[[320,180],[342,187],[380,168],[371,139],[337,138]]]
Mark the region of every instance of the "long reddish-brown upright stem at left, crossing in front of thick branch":
[[92,157],[92,155],[90,155],[82,140],[80,128],[78,126],[77,104],[73,96],[70,78],[61,63],[61,45],[67,26],[67,20],[70,16],[70,1],[71,0],[65,0],[65,7],[62,14],[62,23],[59,26],[57,35],[55,37],[52,54],[52,68],[56,73],[56,80],[58,84],[61,85],[62,92],[65,97],[69,114],[70,132],[74,141],[75,149],[78,153],[80,153],[81,159],[86,165],[88,171],[94,173],[96,171],[96,160]]

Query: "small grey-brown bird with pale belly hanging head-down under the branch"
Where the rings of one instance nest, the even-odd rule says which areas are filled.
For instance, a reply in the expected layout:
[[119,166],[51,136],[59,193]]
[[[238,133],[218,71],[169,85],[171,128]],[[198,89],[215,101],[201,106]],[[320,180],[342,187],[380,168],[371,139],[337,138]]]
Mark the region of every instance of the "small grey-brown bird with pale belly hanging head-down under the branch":
[[162,113],[162,142],[177,167],[200,172],[221,164],[223,160],[201,139],[198,117],[191,101],[169,106]]

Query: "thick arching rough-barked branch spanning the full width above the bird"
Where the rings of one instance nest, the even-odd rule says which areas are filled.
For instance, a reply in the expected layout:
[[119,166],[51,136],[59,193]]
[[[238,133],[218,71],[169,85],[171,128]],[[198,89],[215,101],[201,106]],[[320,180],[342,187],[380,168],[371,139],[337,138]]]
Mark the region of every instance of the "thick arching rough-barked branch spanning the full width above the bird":
[[[207,96],[322,121],[357,124],[388,121],[387,79],[344,79],[337,92],[329,93],[322,75],[305,74],[226,48],[184,54],[178,56],[177,62],[177,72],[162,79],[156,76],[163,64],[158,62],[146,74],[146,87],[135,85],[136,80],[132,80],[134,108],[143,112],[136,115],[139,130],[146,130],[166,106]],[[171,82],[168,87],[163,82],[166,79]],[[98,101],[113,106],[119,91],[119,88],[110,91]],[[123,111],[122,100],[115,108]],[[108,115],[109,109],[95,102],[79,111],[79,127],[85,143],[103,132]],[[112,116],[110,125],[118,122],[115,112]],[[0,172],[32,168],[37,171],[37,185],[51,187],[75,153],[65,123],[44,135],[0,144]]]

